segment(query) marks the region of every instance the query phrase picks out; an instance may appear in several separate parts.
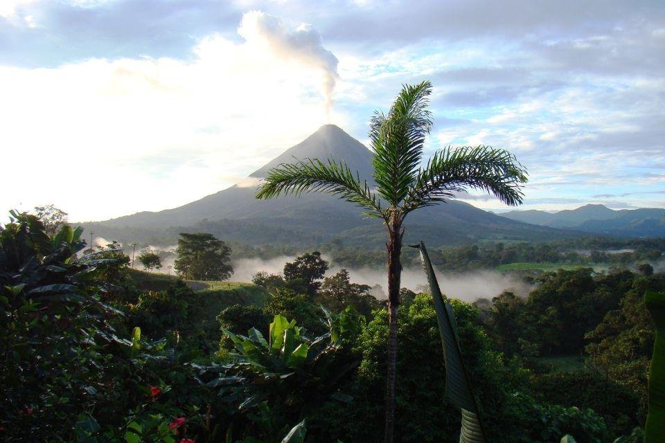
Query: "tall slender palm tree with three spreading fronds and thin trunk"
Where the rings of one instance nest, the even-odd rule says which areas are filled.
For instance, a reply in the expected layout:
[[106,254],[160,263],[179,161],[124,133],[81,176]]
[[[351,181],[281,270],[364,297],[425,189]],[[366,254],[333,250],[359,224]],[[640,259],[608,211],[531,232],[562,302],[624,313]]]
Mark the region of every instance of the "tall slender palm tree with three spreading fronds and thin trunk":
[[423,143],[432,129],[427,110],[432,83],[404,85],[388,114],[375,112],[369,136],[373,151],[373,188],[344,162],[306,159],[282,164],[268,172],[256,198],[328,192],[365,209],[364,215],[383,220],[388,231],[388,362],[386,395],[386,443],[393,442],[397,365],[398,305],[402,265],[402,225],[418,208],[432,206],[456,192],[484,190],[509,206],[522,203],[521,183],[526,170],[515,156],[492,147],[447,147],[436,152],[423,167]]

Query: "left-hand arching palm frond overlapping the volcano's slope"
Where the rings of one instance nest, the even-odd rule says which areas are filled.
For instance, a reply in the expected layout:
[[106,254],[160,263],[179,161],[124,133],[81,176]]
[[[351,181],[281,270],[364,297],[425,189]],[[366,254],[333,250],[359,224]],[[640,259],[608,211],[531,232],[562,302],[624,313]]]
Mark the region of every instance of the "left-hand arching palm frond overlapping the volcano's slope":
[[305,159],[293,164],[283,163],[268,171],[268,177],[260,185],[257,199],[272,199],[280,195],[299,195],[308,192],[326,192],[358,206],[369,209],[363,213],[369,217],[385,218],[379,199],[371,192],[367,181],[361,183],[359,174],[345,163],[328,159]]

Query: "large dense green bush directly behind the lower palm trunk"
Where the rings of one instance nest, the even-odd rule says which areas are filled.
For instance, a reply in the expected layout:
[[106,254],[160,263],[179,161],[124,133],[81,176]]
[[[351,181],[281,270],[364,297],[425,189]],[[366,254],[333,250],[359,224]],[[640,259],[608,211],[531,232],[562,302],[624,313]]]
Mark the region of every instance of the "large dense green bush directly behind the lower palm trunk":
[[[514,393],[526,379],[518,368],[506,365],[490,349],[488,338],[477,324],[478,311],[468,303],[452,300],[461,349],[477,381],[477,396],[486,417],[490,441],[520,442],[526,426],[515,406]],[[402,309],[400,307],[400,309]],[[385,395],[385,362],[388,318],[377,310],[355,343],[362,361],[341,390],[347,404],[326,401],[308,419],[308,441],[380,442]],[[400,442],[441,442],[459,437],[459,408],[445,399],[441,337],[431,297],[416,296],[400,312],[398,352],[397,423]]]

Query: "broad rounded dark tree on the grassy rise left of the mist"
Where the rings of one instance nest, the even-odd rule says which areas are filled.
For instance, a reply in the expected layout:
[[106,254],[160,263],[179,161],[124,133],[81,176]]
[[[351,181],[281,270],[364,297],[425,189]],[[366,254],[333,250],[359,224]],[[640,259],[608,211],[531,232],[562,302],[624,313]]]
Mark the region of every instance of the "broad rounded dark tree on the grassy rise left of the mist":
[[180,233],[175,270],[190,280],[226,280],[233,273],[231,248],[207,233]]

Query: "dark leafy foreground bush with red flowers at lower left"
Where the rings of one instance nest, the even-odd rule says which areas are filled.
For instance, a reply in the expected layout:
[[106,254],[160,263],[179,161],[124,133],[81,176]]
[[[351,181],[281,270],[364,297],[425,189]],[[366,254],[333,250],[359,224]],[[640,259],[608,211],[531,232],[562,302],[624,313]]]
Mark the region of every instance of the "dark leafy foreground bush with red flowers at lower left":
[[[84,247],[80,229],[48,237],[32,215],[12,213],[0,227],[0,432],[26,442],[114,442],[141,424],[143,441],[160,426],[168,441],[172,417],[195,414],[159,379],[172,350],[138,328],[118,336],[122,313],[102,300],[126,260],[108,251],[77,259]],[[151,401],[150,386],[161,386],[163,401]]]

